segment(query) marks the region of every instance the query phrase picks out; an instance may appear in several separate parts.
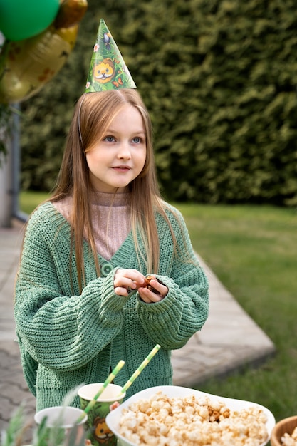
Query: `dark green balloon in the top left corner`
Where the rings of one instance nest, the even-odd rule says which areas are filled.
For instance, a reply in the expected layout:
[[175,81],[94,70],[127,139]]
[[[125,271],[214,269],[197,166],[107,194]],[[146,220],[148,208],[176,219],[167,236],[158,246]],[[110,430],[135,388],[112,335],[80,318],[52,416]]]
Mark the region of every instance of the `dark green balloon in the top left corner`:
[[37,36],[55,19],[59,0],[0,0],[0,31],[9,41]]

